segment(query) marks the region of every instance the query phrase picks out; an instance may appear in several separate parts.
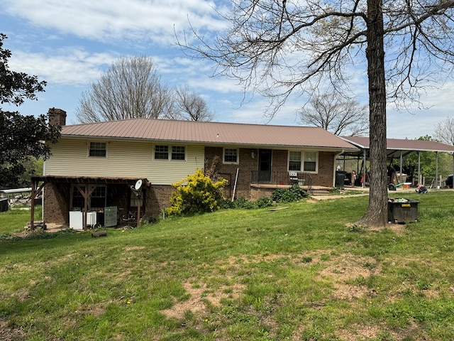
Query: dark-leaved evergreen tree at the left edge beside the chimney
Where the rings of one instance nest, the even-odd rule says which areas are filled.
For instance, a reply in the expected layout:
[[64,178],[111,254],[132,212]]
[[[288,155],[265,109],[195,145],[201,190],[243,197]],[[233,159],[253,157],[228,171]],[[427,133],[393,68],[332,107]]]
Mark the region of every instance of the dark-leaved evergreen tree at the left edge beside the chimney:
[[[3,48],[6,36],[0,33],[0,103],[20,106],[26,99],[37,99],[35,92],[43,92],[44,81],[23,72],[9,70],[11,51]],[[57,126],[50,126],[45,115],[23,116],[6,112],[0,107],[0,188],[19,184],[19,176],[33,158],[48,158],[50,144],[60,136]]]

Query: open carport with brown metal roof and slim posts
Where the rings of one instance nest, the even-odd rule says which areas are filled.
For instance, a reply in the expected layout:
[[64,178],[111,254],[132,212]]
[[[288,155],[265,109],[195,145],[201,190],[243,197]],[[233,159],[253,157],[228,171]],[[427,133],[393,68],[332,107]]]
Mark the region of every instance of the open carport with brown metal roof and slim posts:
[[[346,158],[352,159],[355,158],[358,160],[358,163],[362,161],[360,167],[360,176],[365,176],[364,181],[362,182],[362,187],[365,187],[367,182],[367,171],[366,171],[366,161],[369,158],[370,152],[370,140],[369,137],[365,136],[341,136],[341,139],[350,142],[354,146],[359,148],[358,152],[345,152],[341,154],[341,160],[344,161],[345,169],[345,160]],[[399,174],[400,178],[398,179],[402,183],[402,159],[404,156],[409,155],[416,151],[418,153],[418,182],[421,183],[421,151],[431,151],[436,153],[436,188],[438,188],[438,153],[451,153],[454,156],[454,146],[449,146],[447,144],[441,144],[437,141],[426,141],[426,140],[408,140],[408,139],[387,139],[387,158],[389,160],[399,160]],[[339,160],[339,159],[338,159]],[[454,169],[454,158],[453,158],[453,169]],[[454,173],[454,172],[453,172]]]

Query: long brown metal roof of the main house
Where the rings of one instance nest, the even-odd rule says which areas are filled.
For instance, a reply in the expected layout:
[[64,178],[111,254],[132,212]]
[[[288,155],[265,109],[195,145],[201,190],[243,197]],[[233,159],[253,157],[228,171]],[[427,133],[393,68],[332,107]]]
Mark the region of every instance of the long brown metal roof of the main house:
[[304,146],[357,150],[322,128],[167,119],[126,119],[62,127],[64,137],[144,139],[242,146]]

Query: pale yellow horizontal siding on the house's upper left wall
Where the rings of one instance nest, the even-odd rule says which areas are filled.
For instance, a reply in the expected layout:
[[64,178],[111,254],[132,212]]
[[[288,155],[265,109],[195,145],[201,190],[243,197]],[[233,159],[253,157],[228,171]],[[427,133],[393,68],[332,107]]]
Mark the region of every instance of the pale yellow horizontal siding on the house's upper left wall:
[[106,143],[106,158],[96,158],[88,156],[89,140],[60,139],[52,145],[44,175],[147,178],[155,185],[170,185],[204,168],[204,146],[186,146],[186,161],[170,161],[153,160],[150,141]]

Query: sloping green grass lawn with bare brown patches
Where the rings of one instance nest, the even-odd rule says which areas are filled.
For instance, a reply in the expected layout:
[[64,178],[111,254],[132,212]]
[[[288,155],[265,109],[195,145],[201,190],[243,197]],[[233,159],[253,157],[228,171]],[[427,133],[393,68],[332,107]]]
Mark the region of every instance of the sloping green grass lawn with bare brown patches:
[[0,340],[454,340],[454,192],[405,197],[384,230],[353,224],[367,196],[101,238],[1,213]]

